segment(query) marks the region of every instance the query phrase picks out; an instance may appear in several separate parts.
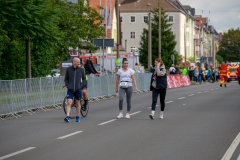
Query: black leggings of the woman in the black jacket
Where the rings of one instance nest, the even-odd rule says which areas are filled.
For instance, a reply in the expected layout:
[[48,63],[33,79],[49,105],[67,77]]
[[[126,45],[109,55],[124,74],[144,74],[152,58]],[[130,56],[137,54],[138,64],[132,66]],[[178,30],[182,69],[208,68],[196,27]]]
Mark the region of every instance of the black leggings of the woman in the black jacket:
[[165,109],[165,97],[166,97],[167,89],[155,89],[152,91],[152,111],[155,111],[158,94],[160,94],[160,103],[161,103],[161,111]]

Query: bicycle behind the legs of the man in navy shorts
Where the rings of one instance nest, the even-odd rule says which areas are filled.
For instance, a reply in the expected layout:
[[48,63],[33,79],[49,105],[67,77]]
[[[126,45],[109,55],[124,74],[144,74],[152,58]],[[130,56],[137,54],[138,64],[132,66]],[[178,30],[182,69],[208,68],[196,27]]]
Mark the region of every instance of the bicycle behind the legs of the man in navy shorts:
[[[84,108],[83,108],[83,105],[84,105],[83,96],[81,97],[80,104],[81,104],[81,110],[80,110],[81,115],[83,117],[87,117],[88,110],[89,110],[89,105],[87,104],[87,107],[84,110]],[[67,107],[67,96],[65,96],[64,100],[63,100],[63,111],[67,115],[66,107]],[[69,118],[71,118],[71,119],[76,118],[76,114],[77,114],[77,106],[76,106],[76,101],[75,101],[75,96],[74,96],[73,97],[73,102],[71,104],[71,110],[70,110]]]

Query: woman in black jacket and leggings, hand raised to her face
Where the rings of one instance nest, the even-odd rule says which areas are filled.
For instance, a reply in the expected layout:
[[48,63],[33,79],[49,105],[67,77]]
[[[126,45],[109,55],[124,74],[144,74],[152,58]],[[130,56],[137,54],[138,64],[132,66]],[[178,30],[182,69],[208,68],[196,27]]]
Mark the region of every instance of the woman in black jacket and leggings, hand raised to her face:
[[149,117],[154,119],[157,98],[160,94],[160,103],[161,103],[161,111],[160,118],[163,119],[163,112],[165,109],[165,97],[167,92],[167,74],[166,68],[163,64],[162,59],[157,58],[155,60],[155,70],[152,74],[150,91],[152,91],[152,111]]

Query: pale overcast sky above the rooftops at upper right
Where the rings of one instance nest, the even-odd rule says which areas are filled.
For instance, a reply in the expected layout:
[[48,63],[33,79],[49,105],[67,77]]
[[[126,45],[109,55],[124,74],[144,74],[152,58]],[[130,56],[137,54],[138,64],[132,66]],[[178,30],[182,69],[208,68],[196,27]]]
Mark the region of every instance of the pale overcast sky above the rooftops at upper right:
[[218,32],[240,27],[240,0],[179,1],[183,5],[190,5],[192,8],[195,8],[196,15],[209,17],[209,24],[213,25]]

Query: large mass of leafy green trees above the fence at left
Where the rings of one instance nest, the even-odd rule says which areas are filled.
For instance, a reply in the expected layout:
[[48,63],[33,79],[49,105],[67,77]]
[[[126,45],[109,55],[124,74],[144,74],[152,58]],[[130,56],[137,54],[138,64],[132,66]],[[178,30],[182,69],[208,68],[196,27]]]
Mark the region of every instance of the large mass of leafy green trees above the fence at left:
[[26,77],[26,39],[32,77],[43,77],[69,58],[69,47],[93,49],[92,39],[104,35],[100,14],[84,0],[1,0],[0,17],[0,79]]

